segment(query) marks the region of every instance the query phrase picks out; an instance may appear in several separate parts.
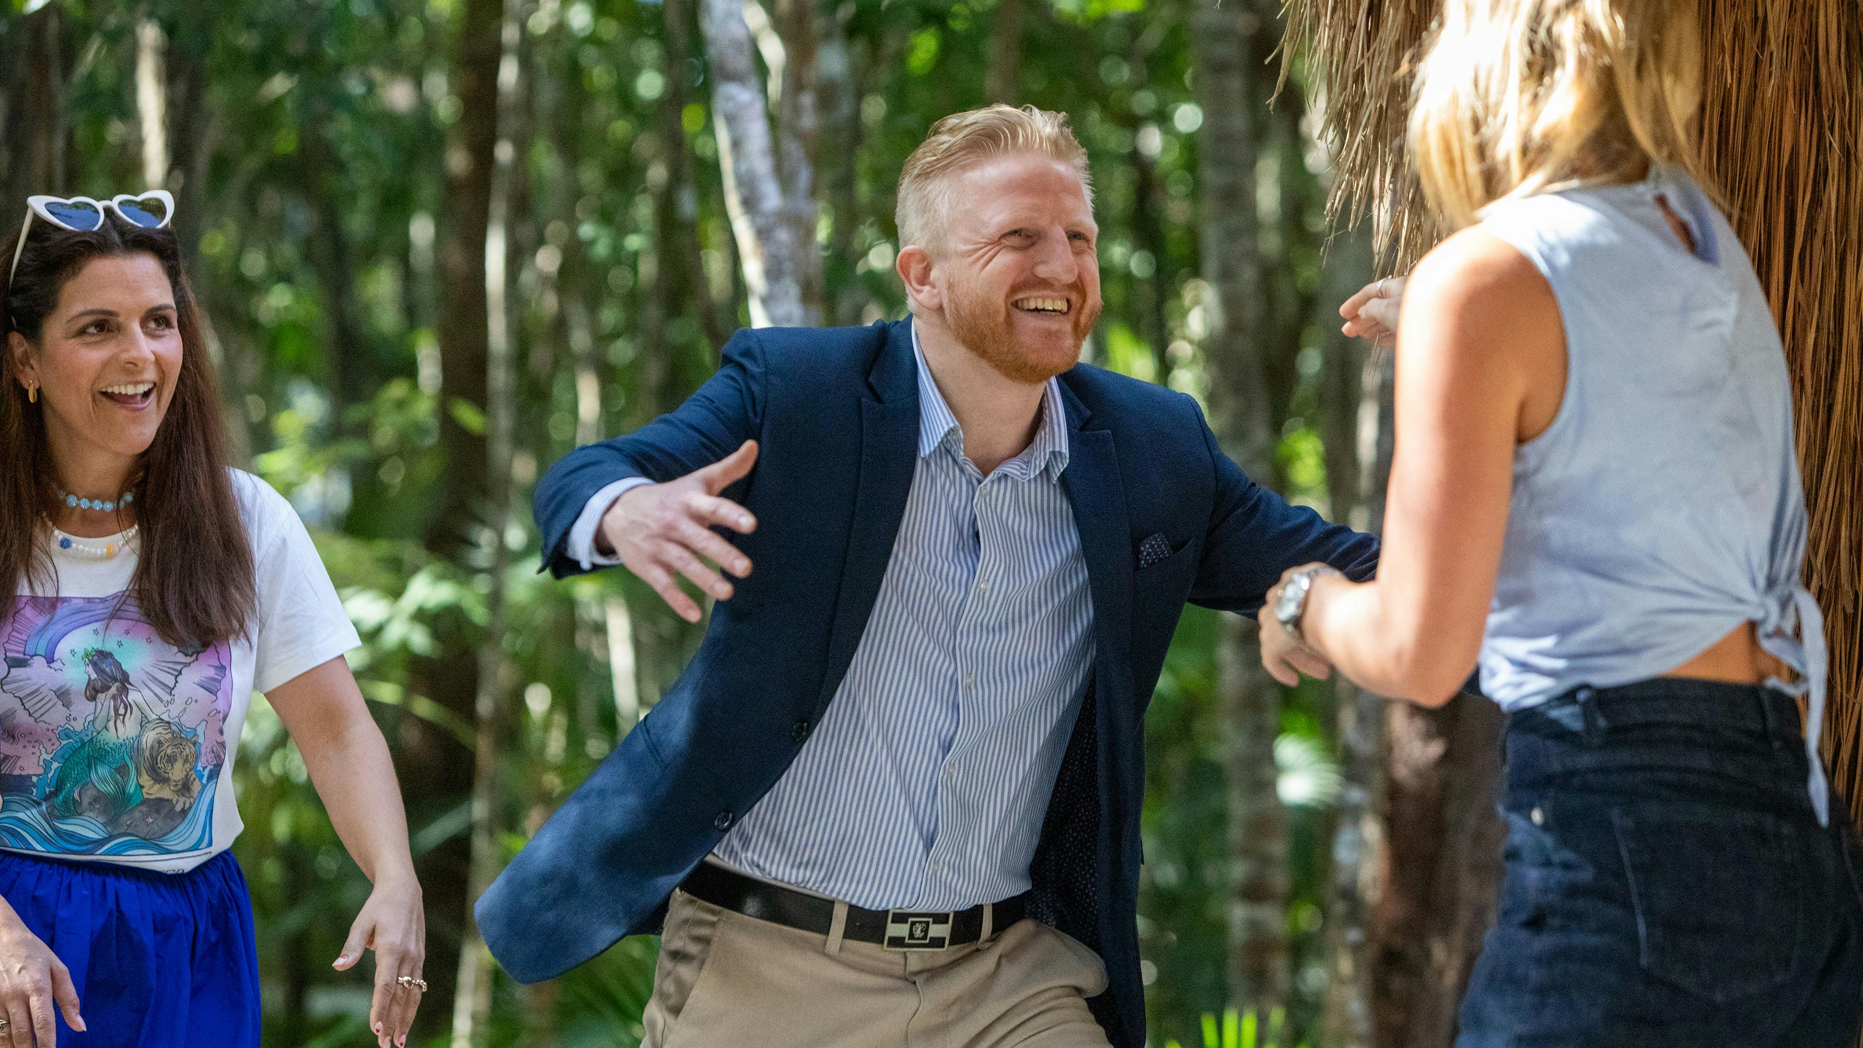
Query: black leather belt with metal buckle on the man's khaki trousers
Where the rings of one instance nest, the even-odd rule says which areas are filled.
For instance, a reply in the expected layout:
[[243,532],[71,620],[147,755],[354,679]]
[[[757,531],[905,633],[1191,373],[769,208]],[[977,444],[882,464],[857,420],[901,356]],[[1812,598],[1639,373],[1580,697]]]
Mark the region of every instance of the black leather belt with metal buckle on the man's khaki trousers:
[[[734,910],[745,917],[805,932],[825,936],[835,925],[833,899],[743,876],[708,862],[699,863],[699,869],[686,876],[680,889],[693,899]],[[995,903],[989,921],[991,934],[1008,929],[1027,916],[1027,893]],[[870,942],[885,949],[920,951],[972,944],[982,938],[982,932],[984,906],[971,906],[969,910],[863,910],[850,903],[842,938]]]

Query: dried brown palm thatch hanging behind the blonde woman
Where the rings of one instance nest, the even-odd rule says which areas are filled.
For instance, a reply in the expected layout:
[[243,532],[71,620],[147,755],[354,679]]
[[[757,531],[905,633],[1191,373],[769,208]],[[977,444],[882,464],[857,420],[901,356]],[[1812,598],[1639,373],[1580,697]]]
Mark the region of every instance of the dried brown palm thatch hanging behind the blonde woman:
[[[1436,0],[1289,0],[1338,159],[1328,216],[1369,216],[1392,270],[1440,237],[1405,157]],[[1792,369],[1811,507],[1805,584],[1826,614],[1826,761],[1863,815],[1863,4],[1701,0],[1703,147]]]

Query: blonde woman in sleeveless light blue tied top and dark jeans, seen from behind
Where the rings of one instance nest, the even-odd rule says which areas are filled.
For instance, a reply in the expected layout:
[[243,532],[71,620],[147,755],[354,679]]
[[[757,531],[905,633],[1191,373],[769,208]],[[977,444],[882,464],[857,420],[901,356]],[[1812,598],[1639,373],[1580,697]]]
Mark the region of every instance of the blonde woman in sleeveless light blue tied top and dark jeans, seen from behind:
[[1403,289],[1379,574],[1295,569],[1261,615],[1284,681],[1304,645],[1440,705],[1479,662],[1511,714],[1461,1048],[1857,1041],[1790,388],[1701,188],[1693,7],[1446,2],[1410,149],[1459,231]]

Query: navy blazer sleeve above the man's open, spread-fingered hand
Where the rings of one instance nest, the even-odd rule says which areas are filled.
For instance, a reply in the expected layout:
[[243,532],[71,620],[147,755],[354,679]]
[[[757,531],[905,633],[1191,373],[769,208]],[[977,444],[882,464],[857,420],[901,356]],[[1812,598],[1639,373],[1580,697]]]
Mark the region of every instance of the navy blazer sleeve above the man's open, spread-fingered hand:
[[717,373],[676,410],[633,433],[585,444],[557,459],[537,481],[531,500],[544,539],[544,567],[557,578],[583,572],[568,556],[566,541],[583,507],[604,487],[626,477],[654,483],[678,479],[756,438],[764,421],[764,345],[755,330],[743,328],[725,343]]

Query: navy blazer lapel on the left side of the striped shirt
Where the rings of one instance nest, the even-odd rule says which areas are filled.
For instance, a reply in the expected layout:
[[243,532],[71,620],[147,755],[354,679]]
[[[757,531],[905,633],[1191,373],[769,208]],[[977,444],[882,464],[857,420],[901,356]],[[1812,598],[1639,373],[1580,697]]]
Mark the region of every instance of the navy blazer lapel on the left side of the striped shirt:
[[866,632],[866,619],[892,558],[892,541],[905,517],[913,470],[918,466],[918,364],[913,360],[911,321],[900,321],[887,332],[868,386],[872,395],[861,399],[861,479],[855,485],[853,524],[840,569],[818,710],[835,697],[861,634]]

